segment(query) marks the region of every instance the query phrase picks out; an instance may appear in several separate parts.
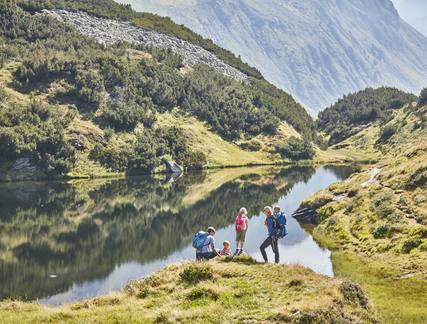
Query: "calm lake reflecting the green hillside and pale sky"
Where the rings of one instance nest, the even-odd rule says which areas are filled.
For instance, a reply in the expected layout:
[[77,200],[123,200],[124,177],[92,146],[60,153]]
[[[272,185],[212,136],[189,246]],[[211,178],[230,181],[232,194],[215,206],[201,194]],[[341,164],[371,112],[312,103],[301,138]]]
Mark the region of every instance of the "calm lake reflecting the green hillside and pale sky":
[[[349,167],[236,168],[178,179],[0,184],[0,299],[60,305],[122,289],[164,266],[191,260],[209,225],[235,248],[234,218],[249,211],[245,251],[262,260],[265,205],[289,216],[302,200],[345,179]],[[281,262],[333,276],[322,249],[292,217]],[[269,260],[273,260],[269,249]]]

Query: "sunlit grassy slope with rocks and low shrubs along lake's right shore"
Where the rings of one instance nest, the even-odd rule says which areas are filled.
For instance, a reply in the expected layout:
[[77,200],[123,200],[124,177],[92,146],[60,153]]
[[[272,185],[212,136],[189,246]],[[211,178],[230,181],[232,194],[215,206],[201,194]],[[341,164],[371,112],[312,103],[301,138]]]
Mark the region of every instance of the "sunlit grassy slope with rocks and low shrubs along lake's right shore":
[[317,211],[314,236],[336,249],[338,274],[362,284],[387,323],[427,320],[426,139],[421,99],[394,110],[337,144],[377,151],[378,163],[303,203]]

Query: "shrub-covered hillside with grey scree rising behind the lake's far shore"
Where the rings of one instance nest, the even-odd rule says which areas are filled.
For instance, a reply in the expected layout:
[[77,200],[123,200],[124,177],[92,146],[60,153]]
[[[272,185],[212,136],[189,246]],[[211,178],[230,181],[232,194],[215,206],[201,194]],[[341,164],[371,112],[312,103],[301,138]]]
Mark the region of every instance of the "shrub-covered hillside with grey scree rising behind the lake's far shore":
[[0,17],[2,180],[265,164],[315,138],[290,95],[170,20],[108,0],[3,1]]

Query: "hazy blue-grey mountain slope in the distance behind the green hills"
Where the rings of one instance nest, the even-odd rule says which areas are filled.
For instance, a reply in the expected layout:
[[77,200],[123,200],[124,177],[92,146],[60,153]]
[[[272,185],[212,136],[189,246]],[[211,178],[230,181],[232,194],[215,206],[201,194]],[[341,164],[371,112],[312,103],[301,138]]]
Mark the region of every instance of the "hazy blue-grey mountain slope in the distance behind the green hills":
[[213,39],[314,112],[367,86],[427,84],[427,38],[390,0],[120,2]]

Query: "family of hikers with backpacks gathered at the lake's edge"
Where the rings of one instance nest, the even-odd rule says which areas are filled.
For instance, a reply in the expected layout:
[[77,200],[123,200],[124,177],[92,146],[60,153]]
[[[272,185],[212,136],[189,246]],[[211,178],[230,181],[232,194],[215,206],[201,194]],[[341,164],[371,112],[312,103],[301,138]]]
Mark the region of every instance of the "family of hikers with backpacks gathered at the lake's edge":
[[[267,237],[260,246],[261,255],[264,262],[268,262],[267,253],[265,249],[271,246],[274,253],[275,263],[279,263],[279,247],[278,241],[284,238],[288,232],[286,227],[286,215],[281,210],[280,206],[264,207],[265,222],[267,228]],[[232,253],[230,242],[225,240],[222,243],[222,249],[217,249],[215,246],[214,227],[208,227],[207,231],[198,232],[193,239],[193,247],[196,249],[197,260],[209,260],[215,257],[235,257],[241,255],[243,246],[246,240],[246,233],[249,228],[248,211],[242,207],[236,216],[234,228],[236,231],[236,251]]]

